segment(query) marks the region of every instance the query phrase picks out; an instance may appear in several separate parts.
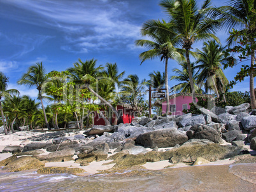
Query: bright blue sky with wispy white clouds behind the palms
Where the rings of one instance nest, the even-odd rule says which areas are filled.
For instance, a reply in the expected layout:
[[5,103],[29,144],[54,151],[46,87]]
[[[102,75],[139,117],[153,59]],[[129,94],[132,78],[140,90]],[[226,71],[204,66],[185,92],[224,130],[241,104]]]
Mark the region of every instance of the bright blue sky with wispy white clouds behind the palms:
[[[213,6],[223,2],[212,0]],[[202,4],[203,1],[198,1]],[[141,25],[150,19],[167,20],[157,0],[0,0],[0,71],[10,78],[8,88],[36,97],[36,88],[17,85],[27,68],[43,62],[46,72],[65,71],[73,63],[97,59],[98,65],[117,63],[119,72],[138,74],[149,79],[153,71],[164,71],[159,59],[142,65],[139,53],[144,48],[134,46],[141,37]],[[218,32],[222,45],[228,34]],[[201,48],[203,42],[192,47]],[[169,76],[173,68],[180,68],[169,61]],[[229,81],[234,79],[238,68],[226,69]],[[169,86],[176,85],[169,81]],[[249,79],[234,86],[236,91],[249,91]]]

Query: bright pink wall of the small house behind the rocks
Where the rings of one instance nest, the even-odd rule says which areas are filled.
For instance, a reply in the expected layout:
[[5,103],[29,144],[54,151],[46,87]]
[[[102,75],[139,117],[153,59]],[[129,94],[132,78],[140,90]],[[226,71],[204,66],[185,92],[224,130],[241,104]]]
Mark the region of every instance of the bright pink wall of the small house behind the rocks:
[[[196,102],[198,99],[196,98]],[[182,105],[187,104],[187,108],[190,109],[190,103],[192,103],[192,97],[191,96],[183,96],[179,95],[178,97],[174,97],[173,99],[170,99],[170,105],[176,105],[176,112],[173,112],[173,115],[182,115]],[[166,101],[162,102],[162,114],[166,113]]]

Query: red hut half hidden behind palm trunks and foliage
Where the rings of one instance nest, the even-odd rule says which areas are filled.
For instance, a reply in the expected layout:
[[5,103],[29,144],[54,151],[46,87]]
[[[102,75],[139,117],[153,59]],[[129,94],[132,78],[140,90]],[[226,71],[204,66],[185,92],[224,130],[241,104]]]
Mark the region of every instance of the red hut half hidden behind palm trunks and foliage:
[[[111,124],[115,121],[115,113],[113,111],[104,111],[101,110],[104,113],[104,116],[108,118],[108,121],[110,121]],[[118,105],[117,106],[118,114],[122,117],[122,120],[124,123],[131,123],[132,119],[134,118],[134,110],[129,105]],[[100,114],[94,113],[94,125],[105,125],[104,119],[101,117]]]

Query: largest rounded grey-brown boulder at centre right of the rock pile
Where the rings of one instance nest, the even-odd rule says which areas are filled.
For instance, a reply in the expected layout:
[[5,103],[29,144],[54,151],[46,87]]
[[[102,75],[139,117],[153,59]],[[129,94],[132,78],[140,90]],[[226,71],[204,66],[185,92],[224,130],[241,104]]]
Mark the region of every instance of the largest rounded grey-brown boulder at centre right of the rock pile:
[[182,134],[175,128],[155,130],[137,137],[136,142],[144,147],[174,147],[188,140],[187,135]]

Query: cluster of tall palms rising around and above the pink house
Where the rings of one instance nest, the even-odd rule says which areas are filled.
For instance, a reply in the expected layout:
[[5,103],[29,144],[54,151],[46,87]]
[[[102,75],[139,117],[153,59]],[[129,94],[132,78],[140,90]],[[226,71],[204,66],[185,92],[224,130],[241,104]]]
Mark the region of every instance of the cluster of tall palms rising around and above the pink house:
[[[168,90],[167,64],[169,59],[174,59],[182,66],[182,71],[173,69],[178,76],[171,79],[184,81],[171,88],[177,92],[191,92],[193,102],[196,102],[196,92],[201,92],[204,85],[206,92],[209,88],[215,91],[217,97],[219,92],[224,93],[227,79],[221,69],[221,63],[226,62],[222,46],[215,35],[220,29],[239,27],[239,30],[246,32],[255,31],[255,3],[250,0],[233,0],[229,5],[220,8],[210,6],[210,0],[204,1],[199,9],[194,0],[162,0],[160,6],[169,16],[169,21],[149,20],[143,24],[141,34],[149,37],[136,41],[136,45],[147,48],[139,55],[141,63],[145,60],[159,57],[165,62],[165,86]],[[254,17],[253,17],[254,15]],[[202,51],[193,52],[192,46],[197,41],[208,41],[204,43]],[[237,37],[230,36],[228,46],[235,43]],[[252,45],[255,38],[250,39]],[[254,61],[254,51],[252,51],[251,65]],[[190,55],[196,58],[195,64],[191,63]],[[196,71],[196,70],[199,71]],[[169,92],[167,93],[167,109],[169,111]],[[253,72],[250,74],[250,95],[251,106],[256,108],[255,95],[253,89]],[[225,100],[225,95],[224,95]]]

